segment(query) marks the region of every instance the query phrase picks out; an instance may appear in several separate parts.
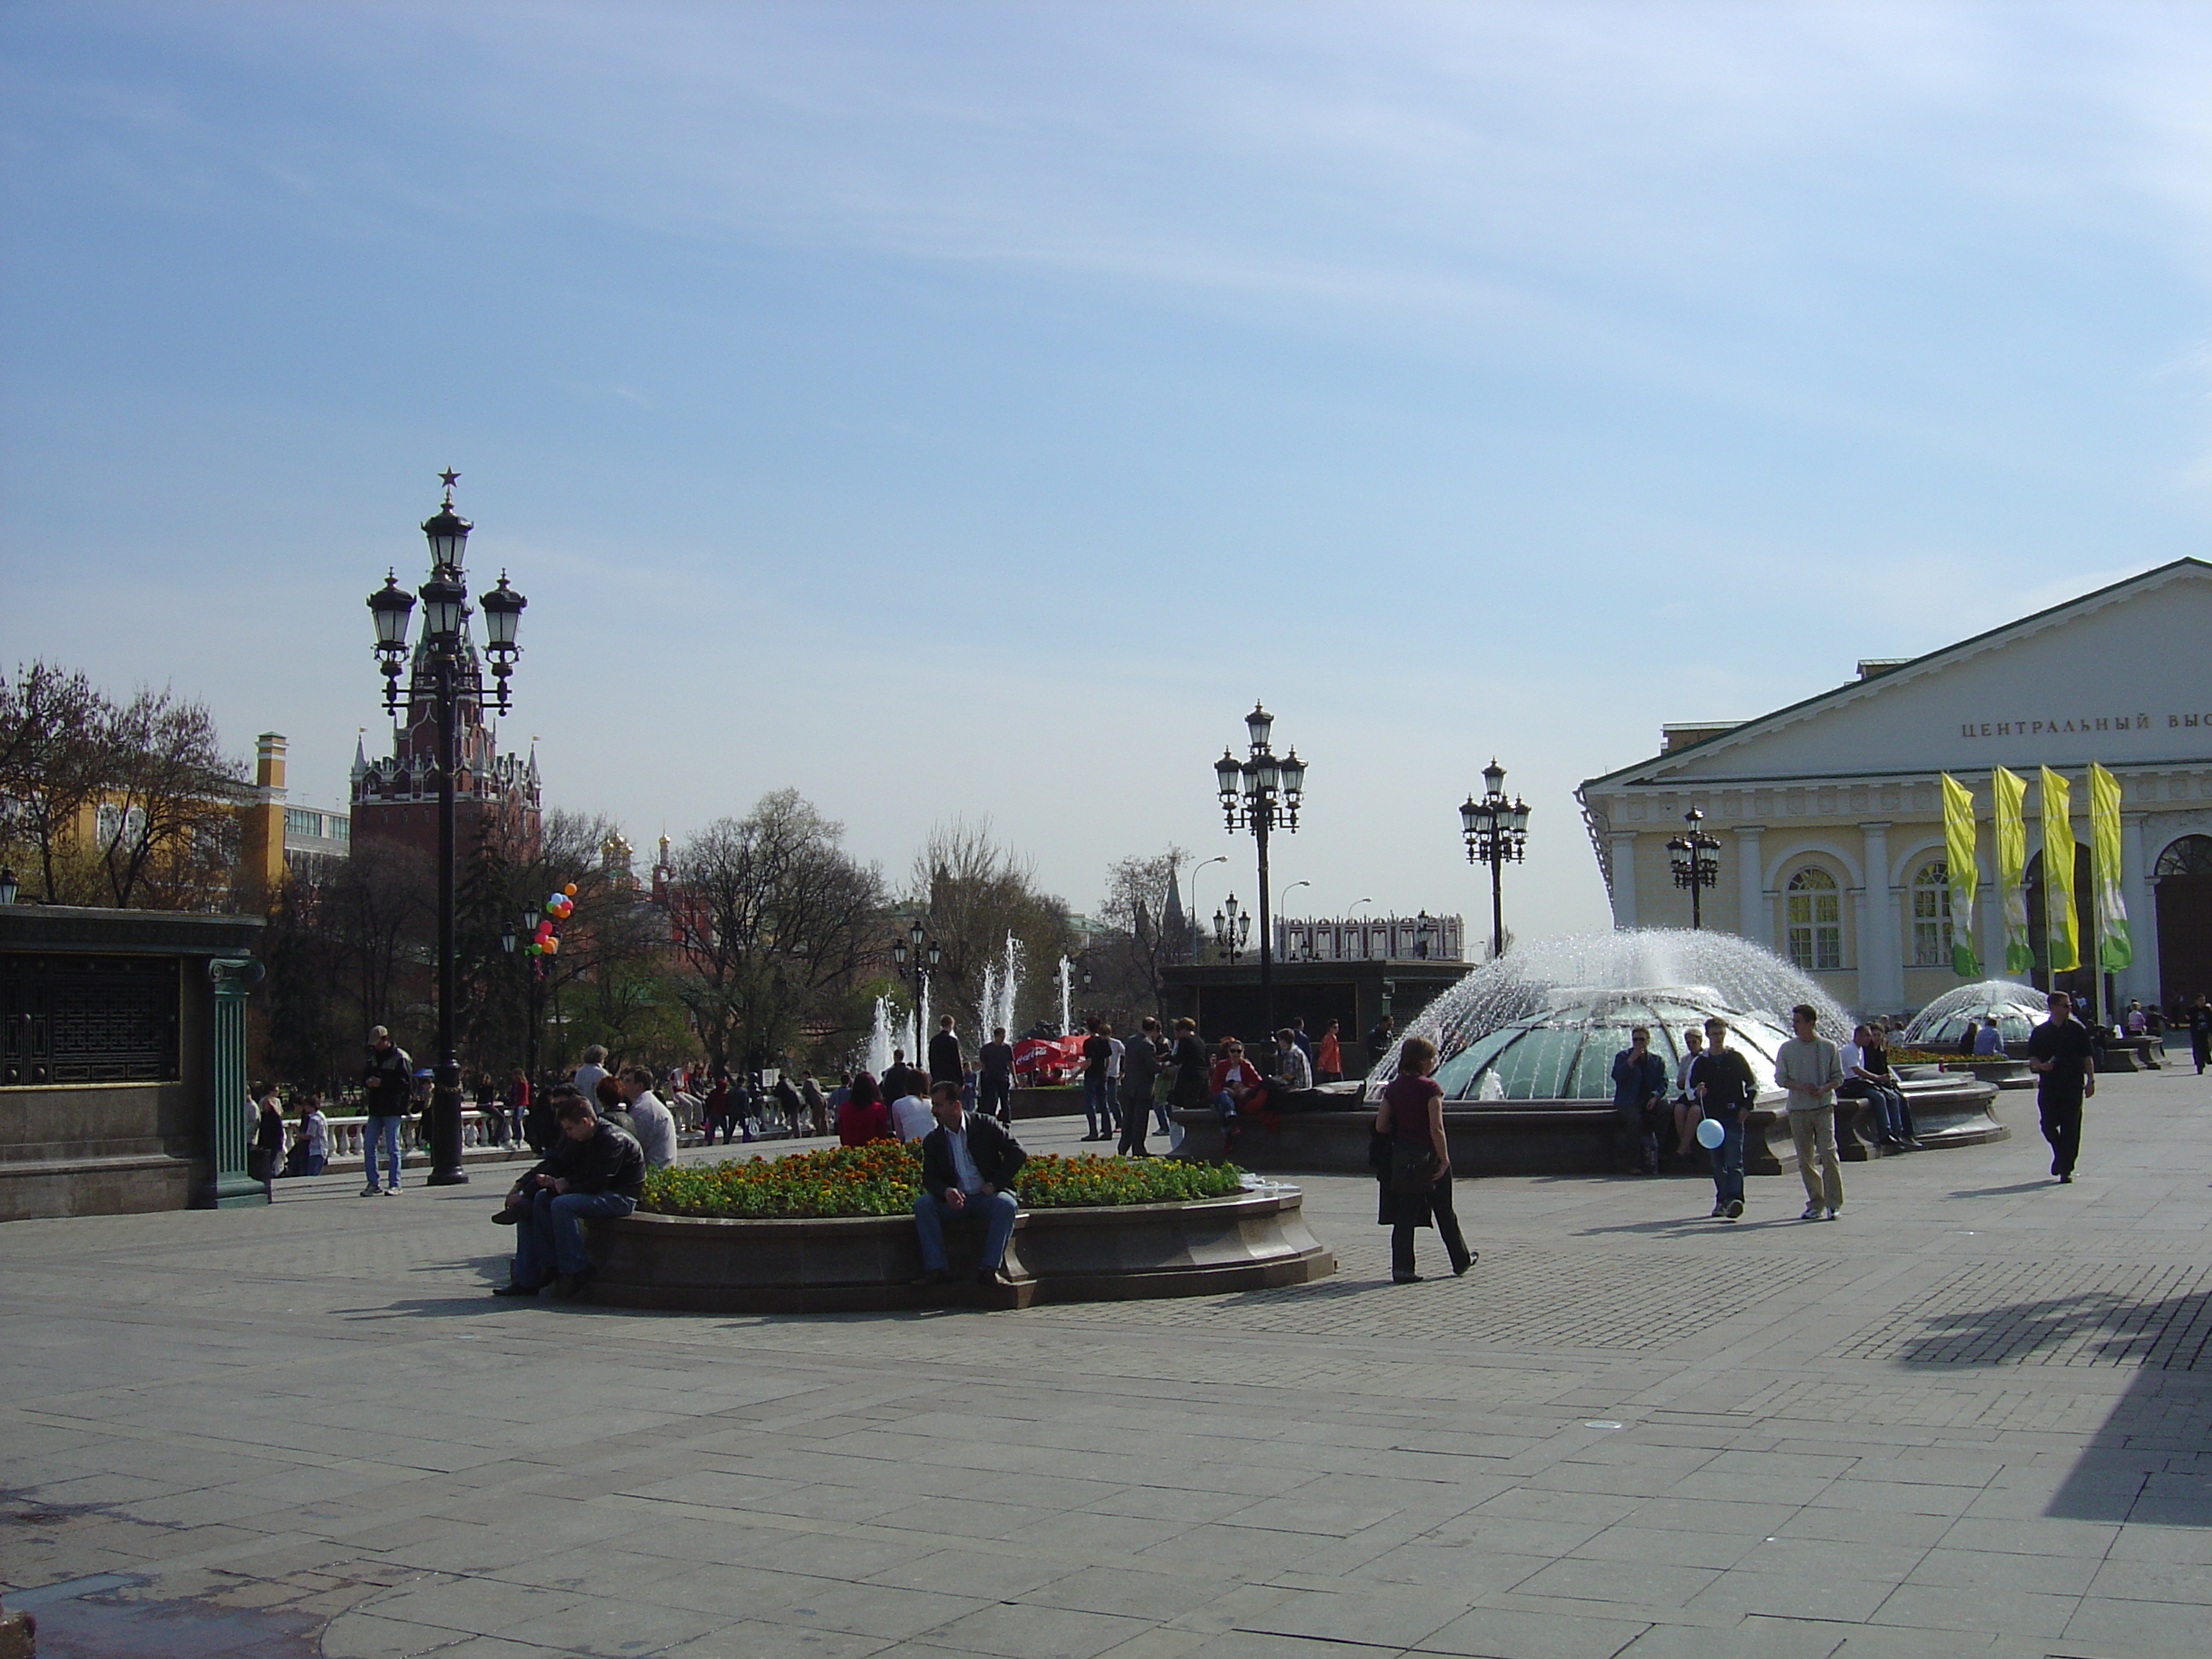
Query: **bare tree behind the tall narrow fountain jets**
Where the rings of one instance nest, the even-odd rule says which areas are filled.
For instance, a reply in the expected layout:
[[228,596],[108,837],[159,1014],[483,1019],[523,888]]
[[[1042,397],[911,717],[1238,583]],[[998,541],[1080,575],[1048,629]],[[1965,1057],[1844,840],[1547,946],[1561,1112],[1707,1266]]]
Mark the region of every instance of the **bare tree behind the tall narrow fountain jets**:
[[914,854],[909,880],[907,905],[927,918],[929,938],[942,949],[929,971],[938,1013],[973,1011],[982,969],[1004,956],[1009,936],[1020,940],[1031,964],[1015,1022],[1046,1011],[1051,964],[1073,945],[1068,907],[1037,887],[1037,869],[1026,856],[991,838],[989,818],[936,825]]

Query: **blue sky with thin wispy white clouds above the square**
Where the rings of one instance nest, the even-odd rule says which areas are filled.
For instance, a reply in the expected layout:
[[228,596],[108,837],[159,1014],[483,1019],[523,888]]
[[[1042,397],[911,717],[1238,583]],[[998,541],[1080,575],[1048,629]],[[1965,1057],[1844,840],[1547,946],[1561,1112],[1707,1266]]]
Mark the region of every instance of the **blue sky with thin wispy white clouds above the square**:
[[[338,799],[462,471],[515,741],[644,845],[796,785],[1075,907],[1597,925],[1573,785],[2205,551],[2212,13],[18,4],[0,655]],[[1199,902],[1228,883],[1214,867]]]

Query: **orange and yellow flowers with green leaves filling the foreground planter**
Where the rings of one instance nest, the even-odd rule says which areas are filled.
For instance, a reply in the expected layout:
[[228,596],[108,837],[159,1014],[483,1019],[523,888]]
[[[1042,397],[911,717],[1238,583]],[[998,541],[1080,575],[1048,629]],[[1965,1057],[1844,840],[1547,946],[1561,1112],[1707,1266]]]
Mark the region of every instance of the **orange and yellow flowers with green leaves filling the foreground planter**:
[[[1234,1164],[1042,1155],[1022,1166],[1024,1210],[1088,1203],[1188,1203],[1241,1190]],[[655,1214],[812,1219],[905,1214],[922,1190],[918,1146],[872,1141],[787,1157],[675,1164],[646,1172],[637,1206]]]

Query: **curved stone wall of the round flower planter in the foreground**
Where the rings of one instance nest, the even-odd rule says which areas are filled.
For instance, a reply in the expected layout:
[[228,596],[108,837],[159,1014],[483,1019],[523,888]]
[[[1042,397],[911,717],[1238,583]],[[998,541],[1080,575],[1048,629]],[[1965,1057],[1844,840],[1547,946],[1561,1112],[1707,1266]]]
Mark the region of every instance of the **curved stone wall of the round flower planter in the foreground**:
[[1336,1272],[1305,1228],[1296,1188],[1203,1203],[1024,1210],[1006,1270],[1013,1285],[973,1283],[982,1225],[945,1230],[956,1283],[916,1287],[922,1272],[911,1217],[830,1221],[703,1221],[630,1214],[586,1223],[595,1276],[588,1298],[615,1307],[699,1314],[825,1314],[929,1307],[1206,1296],[1303,1285]]

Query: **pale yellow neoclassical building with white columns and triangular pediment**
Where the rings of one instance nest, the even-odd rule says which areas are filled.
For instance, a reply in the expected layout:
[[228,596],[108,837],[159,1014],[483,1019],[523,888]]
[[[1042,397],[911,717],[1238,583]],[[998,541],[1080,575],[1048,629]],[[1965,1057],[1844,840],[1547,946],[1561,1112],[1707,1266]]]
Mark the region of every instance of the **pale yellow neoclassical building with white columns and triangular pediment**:
[[[2042,973],[2042,790],[2073,783],[2088,847],[2086,768],[2121,783],[2121,896],[2135,964],[2121,1000],[2212,991],[2212,564],[2177,560],[2068,604],[1858,677],[1741,723],[1668,726],[1661,752],[1577,792],[1615,927],[1688,927],[1668,841],[1703,812],[1719,885],[1705,927],[1767,945],[1847,1009],[1900,1013],[1960,984],[1951,929],[1973,927],[2004,975],[1993,885],[1991,768],[2028,779],[2028,902]],[[1975,916],[1951,916],[1938,779],[1980,821]],[[2086,863],[2086,854],[2084,854]],[[2077,883],[2088,905],[2088,883]],[[2084,953],[2095,933],[2084,914]],[[2066,982],[2066,980],[2062,980]],[[2084,973],[2073,989],[2088,991]]]

